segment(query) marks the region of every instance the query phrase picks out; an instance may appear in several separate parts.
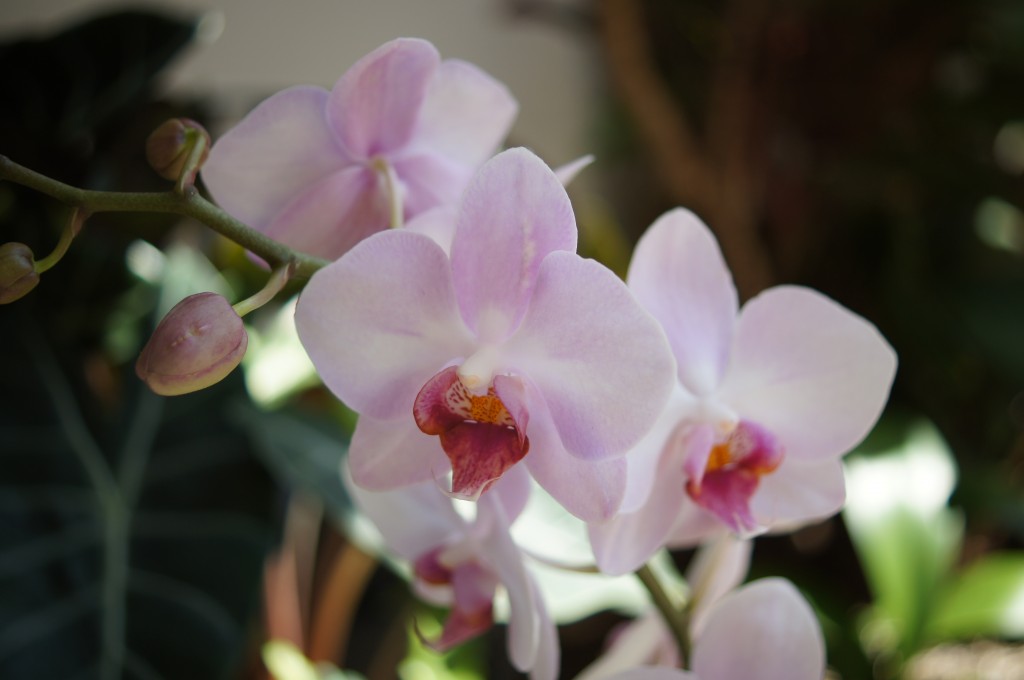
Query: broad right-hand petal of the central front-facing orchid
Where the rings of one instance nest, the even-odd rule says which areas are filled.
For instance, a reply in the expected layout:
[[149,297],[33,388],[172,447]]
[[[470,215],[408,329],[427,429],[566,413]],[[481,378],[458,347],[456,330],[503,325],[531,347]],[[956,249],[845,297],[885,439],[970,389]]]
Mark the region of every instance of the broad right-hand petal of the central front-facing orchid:
[[635,445],[675,384],[657,323],[610,270],[574,253],[544,259],[529,309],[505,349],[544,395],[565,450],[588,460]]

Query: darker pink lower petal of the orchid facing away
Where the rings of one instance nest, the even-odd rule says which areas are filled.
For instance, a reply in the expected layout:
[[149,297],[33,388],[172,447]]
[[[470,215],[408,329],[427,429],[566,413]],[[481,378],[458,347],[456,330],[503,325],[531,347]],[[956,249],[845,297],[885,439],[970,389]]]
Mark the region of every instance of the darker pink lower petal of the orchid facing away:
[[295,250],[335,260],[370,235],[387,228],[389,214],[380,175],[351,166],[311,184],[263,230]]

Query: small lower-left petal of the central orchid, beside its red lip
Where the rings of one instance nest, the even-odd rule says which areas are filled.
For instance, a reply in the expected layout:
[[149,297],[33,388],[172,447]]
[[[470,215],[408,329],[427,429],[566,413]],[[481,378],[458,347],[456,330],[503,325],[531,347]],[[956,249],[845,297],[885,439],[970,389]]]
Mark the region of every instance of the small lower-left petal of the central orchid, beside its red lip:
[[435,485],[452,469],[437,437],[424,434],[412,418],[376,420],[360,416],[348,447],[352,481],[388,491],[421,481]]

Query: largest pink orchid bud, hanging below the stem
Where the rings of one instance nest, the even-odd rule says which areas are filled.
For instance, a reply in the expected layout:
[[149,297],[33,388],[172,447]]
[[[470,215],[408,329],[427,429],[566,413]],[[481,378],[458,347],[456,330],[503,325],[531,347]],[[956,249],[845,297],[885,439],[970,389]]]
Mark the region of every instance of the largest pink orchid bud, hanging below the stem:
[[242,317],[223,296],[189,295],[157,326],[135,373],[157,394],[195,392],[223,380],[248,344]]

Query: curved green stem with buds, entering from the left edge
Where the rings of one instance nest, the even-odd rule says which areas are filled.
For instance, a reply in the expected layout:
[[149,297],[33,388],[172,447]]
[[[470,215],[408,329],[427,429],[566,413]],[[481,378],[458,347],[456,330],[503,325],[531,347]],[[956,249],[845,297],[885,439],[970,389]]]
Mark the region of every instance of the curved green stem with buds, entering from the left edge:
[[161,212],[191,217],[262,257],[274,268],[294,262],[295,279],[308,279],[314,271],[328,264],[327,260],[292,250],[234,219],[204,199],[195,186],[185,187],[181,194],[173,190],[94,192],[51,179],[14,163],[6,156],[0,156],[0,179],[28,186],[88,213]]

